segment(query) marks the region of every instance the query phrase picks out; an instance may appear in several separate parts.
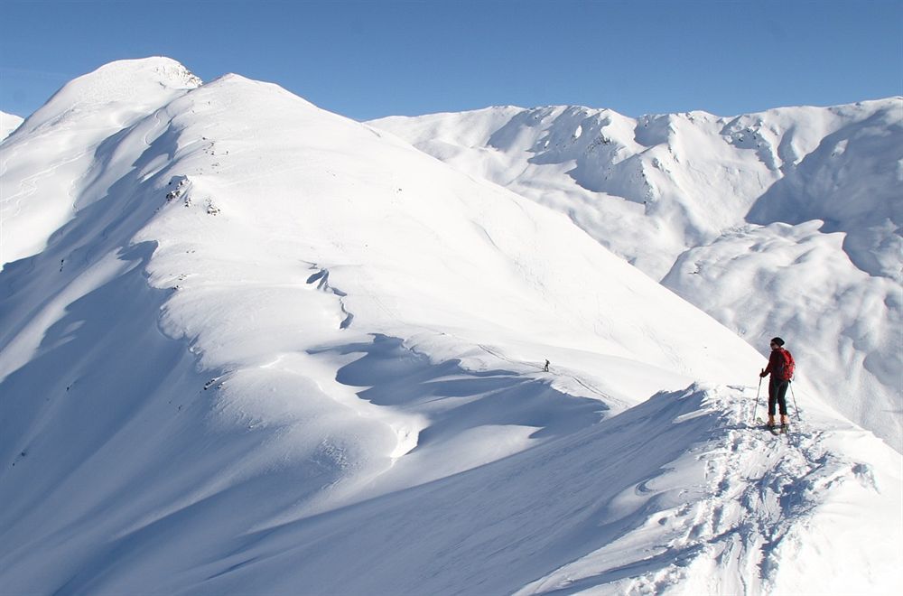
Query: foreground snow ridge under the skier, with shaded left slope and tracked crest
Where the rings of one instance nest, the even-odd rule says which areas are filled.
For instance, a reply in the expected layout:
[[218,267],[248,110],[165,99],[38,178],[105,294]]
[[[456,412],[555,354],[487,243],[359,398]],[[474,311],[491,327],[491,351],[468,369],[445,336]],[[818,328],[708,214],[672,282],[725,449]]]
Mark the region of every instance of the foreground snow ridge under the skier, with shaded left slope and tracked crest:
[[[824,540],[861,531],[825,504],[898,517],[899,478],[855,459],[893,452],[852,428],[751,428],[754,395],[661,393],[559,441],[244,536],[183,593],[288,593],[293,578],[348,594],[855,589],[856,574],[824,573],[836,565],[893,585],[898,526],[855,553]],[[829,451],[841,434],[852,458]]]

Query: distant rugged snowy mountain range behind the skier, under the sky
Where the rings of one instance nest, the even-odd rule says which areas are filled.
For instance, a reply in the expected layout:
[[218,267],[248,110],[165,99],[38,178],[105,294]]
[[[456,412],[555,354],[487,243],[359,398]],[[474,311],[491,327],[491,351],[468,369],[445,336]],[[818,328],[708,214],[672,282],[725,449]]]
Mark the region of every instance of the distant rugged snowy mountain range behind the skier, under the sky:
[[493,107],[372,123],[567,214],[903,452],[903,98],[737,117]]

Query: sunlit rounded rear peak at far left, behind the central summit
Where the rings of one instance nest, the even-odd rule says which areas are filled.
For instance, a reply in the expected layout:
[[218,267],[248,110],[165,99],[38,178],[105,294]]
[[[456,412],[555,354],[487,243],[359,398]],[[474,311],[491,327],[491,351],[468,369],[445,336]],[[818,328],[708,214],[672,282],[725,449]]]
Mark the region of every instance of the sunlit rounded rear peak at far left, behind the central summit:
[[[122,175],[98,160],[110,154],[102,142],[198,85],[168,58],[117,61],[70,81],[29,116],[0,145],[0,266],[40,251],[77,203],[98,200],[87,191],[96,177]],[[15,234],[12,220],[28,232]]]

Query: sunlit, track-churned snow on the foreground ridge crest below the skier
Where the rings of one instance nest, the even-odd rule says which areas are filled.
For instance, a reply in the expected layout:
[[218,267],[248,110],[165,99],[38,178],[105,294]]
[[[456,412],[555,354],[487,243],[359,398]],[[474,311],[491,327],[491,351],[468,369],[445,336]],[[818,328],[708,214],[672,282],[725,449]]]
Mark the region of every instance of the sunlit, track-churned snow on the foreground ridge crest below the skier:
[[[876,480],[868,464],[838,457],[828,447],[836,440],[836,431],[819,428],[820,424],[794,425],[790,433],[777,437],[758,429],[750,423],[752,389],[695,386],[677,396],[698,402],[672,424],[702,418],[705,439],[612,501],[613,508],[647,503],[638,529],[517,593],[589,588],[602,588],[600,593],[660,593],[675,588],[697,593],[860,590],[856,582],[814,573],[803,562],[809,561],[808,551],[817,544],[822,545],[819,556],[824,563],[848,564],[830,544],[837,542],[836,536],[855,533],[856,522],[851,518],[847,524],[831,526],[835,537],[829,538],[821,527],[825,502],[842,504],[865,497],[885,508],[883,497],[889,496],[888,490],[898,490],[898,481]],[[845,432],[875,441],[853,429]],[[698,497],[675,498],[675,492],[694,486],[685,477],[675,479],[677,470],[685,473],[694,466],[699,474],[694,480],[704,478],[696,485]],[[889,508],[886,512],[895,517]],[[638,542],[638,535],[645,540]],[[650,544],[656,546],[649,548]],[[872,567],[888,556],[859,553],[855,564]]]

